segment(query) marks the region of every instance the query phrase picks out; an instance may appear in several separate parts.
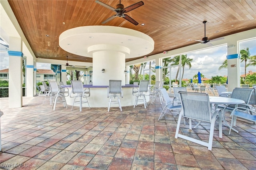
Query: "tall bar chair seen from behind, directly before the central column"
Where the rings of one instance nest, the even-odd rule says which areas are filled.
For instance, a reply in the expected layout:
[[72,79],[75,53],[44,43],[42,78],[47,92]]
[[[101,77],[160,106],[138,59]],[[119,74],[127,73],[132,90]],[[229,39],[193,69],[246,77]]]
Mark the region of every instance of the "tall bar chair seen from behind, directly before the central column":
[[[110,98],[110,100],[108,104],[108,111],[110,109],[110,104],[119,104],[119,108],[122,111],[121,102],[118,94],[121,98],[123,98],[122,80],[109,80],[108,98]],[[112,100],[112,98],[117,98],[117,100]]]

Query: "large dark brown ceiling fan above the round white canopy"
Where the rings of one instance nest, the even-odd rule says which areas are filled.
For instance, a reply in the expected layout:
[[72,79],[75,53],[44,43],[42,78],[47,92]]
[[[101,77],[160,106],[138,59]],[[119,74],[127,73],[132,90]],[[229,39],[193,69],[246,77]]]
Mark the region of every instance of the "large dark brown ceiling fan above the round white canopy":
[[128,16],[128,15],[126,15],[124,13],[130,12],[131,10],[134,10],[134,9],[144,5],[144,3],[142,1],[140,1],[140,2],[137,2],[135,4],[132,4],[132,5],[124,8],[124,5],[121,4],[121,0],[120,0],[119,4],[116,5],[116,9],[115,9],[115,8],[113,8],[113,7],[111,7],[111,6],[107,5],[107,4],[104,4],[103,2],[98,1],[98,0],[96,0],[95,2],[100,4],[100,5],[102,5],[102,6],[104,6],[104,7],[106,7],[106,8],[108,8],[108,9],[110,9],[110,10],[112,10],[112,11],[114,11],[114,12],[116,12],[115,15],[113,15],[110,18],[106,19],[102,23],[107,23],[108,21],[114,19],[115,17],[120,17],[120,18],[122,17],[122,18],[126,19],[127,21],[133,23],[134,25],[138,25],[138,22],[136,22],[134,19],[132,19],[130,16]]

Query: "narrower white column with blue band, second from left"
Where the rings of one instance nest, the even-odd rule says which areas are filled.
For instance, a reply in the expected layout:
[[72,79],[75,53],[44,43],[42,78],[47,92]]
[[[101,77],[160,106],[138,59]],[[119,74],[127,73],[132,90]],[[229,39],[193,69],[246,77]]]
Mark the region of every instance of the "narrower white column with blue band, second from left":
[[32,56],[26,56],[26,96],[34,96],[34,59]]

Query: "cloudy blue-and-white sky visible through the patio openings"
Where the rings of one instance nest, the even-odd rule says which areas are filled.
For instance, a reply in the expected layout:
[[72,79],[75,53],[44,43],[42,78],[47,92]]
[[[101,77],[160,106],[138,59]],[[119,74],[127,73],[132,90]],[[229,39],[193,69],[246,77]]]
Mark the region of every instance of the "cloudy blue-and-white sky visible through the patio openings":
[[[240,42],[240,50],[249,48],[250,55],[256,55],[256,39],[242,41]],[[205,78],[212,78],[212,76],[227,76],[228,70],[218,68],[225,61],[227,55],[226,45],[211,47],[208,49],[194,51],[192,53],[187,53],[187,57],[193,59],[191,62],[191,68],[188,66],[184,68],[184,78],[191,79],[195,74],[200,71]],[[0,70],[6,69],[9,67],[9,58],[7,53],[0,53]],[[240,63],[240,74],[244,74],[244,62]],[[50,64],[48,63],[37,63],[37,69],[50,69]],[[246,68],[246,72],[252,70],[256,72],[256,66],[249,66]],[[176,72],[173,73],[176,75]],[[175,77],[175,76],[172,76]]]

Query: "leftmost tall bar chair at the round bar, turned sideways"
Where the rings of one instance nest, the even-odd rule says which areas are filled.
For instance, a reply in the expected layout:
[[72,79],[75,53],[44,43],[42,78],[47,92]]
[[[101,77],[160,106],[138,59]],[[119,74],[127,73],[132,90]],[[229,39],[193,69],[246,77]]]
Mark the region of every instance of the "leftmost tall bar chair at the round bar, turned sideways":
[[69,96],[68,88],[59,88],[56,81],[49,81],[51,88],[50,97],[53,98],[52,107],[55,110],[56,103],[63,103],[63,106],[68,108],[65,97]]

